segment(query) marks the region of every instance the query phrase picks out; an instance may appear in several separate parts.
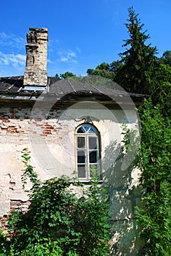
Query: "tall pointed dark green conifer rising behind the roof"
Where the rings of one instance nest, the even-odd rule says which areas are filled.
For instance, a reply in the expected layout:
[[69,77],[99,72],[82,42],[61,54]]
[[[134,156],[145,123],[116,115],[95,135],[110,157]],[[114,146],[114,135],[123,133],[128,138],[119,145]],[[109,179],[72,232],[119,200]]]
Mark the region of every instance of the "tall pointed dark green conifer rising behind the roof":
[[145,45],[150,37],[146,31],[142,31],[143,26],[138,15],[130,7],[126,23],[129,39],[123,40],[126,51],[119,54],[123,66],[118,70],[115,81],[126,91],[151,94],[156,81],[158,61],[155,56],[156,48],[152,48],[150,44]]

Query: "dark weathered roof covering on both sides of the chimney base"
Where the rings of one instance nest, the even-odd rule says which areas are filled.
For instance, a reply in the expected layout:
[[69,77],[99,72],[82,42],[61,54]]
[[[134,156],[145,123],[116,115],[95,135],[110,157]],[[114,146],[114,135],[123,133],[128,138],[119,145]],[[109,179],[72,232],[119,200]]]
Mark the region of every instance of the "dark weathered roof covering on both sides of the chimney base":
[[[113,88],[114,85],[114,88]],[[116,85],[116,86],[115,86]],[[115,88],[116,87],[116,88]],[[6,96],[18,96],[24,95],[35,96],[35,94],[41,94],[41,91],[37,91],[36,87],[32,86],[33,90],[24,90],[23,76],[0,78],[0,98]],[[134,97],[137,101],[140,97],[145,97],[142,94],[126,93],[126,91],[117,88],[117,84],[112,82],[112,86],[103,87],[95,86],[90,83],[80,83],[73,80],[58,80],[57,78],[48,78],[47,85],[48,94],[56,94],[56,96],[64,96],[66,94],[88,94],[88,95],[105,95],[111,97]],[[138,99],[139,98],[139,99]]]

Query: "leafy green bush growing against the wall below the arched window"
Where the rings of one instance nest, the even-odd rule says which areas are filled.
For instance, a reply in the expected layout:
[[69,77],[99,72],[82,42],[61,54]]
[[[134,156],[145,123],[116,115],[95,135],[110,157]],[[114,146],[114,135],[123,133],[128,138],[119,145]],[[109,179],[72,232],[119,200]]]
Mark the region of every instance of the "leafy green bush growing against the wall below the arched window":
[[107,190],[96,179],[89,187],[67,176],[41,183],[29,164],[29,152],[23,159],[23,181],[27,176],[33,184],[31,204],[26,214],[13,212],[8,219],[7,255],[108,255]]

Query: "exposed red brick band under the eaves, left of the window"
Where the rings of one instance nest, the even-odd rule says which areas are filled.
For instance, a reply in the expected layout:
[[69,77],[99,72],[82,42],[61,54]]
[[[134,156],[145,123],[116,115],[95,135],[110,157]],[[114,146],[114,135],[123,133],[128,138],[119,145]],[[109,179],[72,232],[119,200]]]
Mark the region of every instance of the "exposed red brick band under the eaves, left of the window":
[[61,111],[54,109],[46,118],[46,110],[37,110],[35,117],[31,117],[31,108],[4,108],[3,111],[0,110],[1,139],[9,140],[5,135],[12,134],[20,135],[18,140],[24,140],[28,134],[58,136],[61,130],[64,135],[68,132],[69,124],[62,127],[61,123],[57,123],[60,114]]

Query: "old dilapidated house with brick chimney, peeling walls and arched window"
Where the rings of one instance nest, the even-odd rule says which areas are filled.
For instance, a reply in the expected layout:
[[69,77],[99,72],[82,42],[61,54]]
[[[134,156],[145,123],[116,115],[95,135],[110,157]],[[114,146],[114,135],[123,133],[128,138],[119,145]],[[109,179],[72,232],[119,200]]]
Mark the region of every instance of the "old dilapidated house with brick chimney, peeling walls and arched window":
[[15,208],[26,211],[20,176],[22,151],[28,148],[42,180],[76,171],[88,184],[96,170],[111,191],[113,243],[119,241],[122,255],[137,255],[138,171],[128,171],[137,148],[124,160],[120,148],[122,124],[139,132],[135,107],[143,95],[99,78],[83,83],[48,77],[47,41],[47,29],[31,28],[24,75],[0,78],[0,216]]

